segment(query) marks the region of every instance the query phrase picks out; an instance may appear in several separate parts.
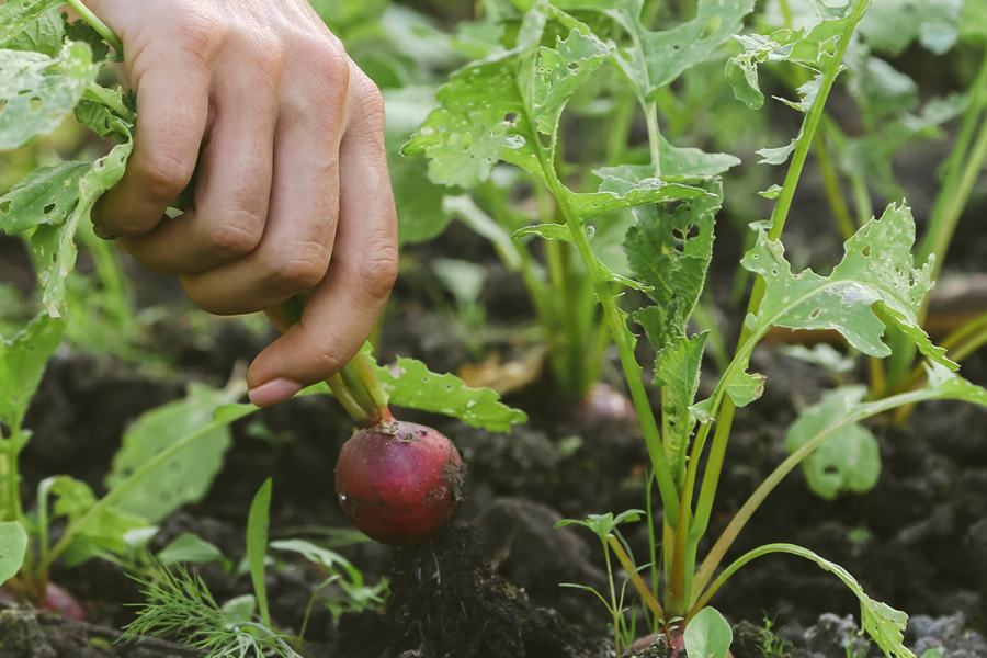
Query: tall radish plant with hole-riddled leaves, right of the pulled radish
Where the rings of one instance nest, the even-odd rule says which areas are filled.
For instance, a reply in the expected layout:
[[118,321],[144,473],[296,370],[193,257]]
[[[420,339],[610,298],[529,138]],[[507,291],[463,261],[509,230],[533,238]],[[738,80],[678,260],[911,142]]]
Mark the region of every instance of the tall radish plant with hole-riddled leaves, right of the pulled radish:
[[[677,637],[690,633],[700,615],[706,614],[711,598],[737,569],[768,553],[798,555],[833,572],[856,594],[862,626],[885,653],[911,656],[901,635],[907,615],[870,599],[850,574],[809,551],[770,544],[717,571],[764,497],[839,431],[926,399],[987,405],[987,392],[955,375],[956,364],[921,330],[919,313],[931,285],[932,263],[914,266],[915,224],[907,206],[892,204],[880,219],[864,224],[847,241],[846,256],[829,276],[812,271],[793,273],[784,258],[780,238],[795,188],[869,1],[854,0],[841,9],[827,5],[812,27],[778,35],[784,37],[783,42],[741,37],[744,43],[763,45],[763,59],[797,60],[809,69],[810,81],[790,103],[805,115],[798,135],[789,145],[761,151],[773,163],[791,160],[787,175],[784,185],[769,193],[776,198],[771,219],[752,226],[756,242],[741,260],[757,280],[739,345],[713,395],[702,401],[695,396],[707,334],[690,336],[687,322],[702,293],[712,253],[714,216],[722,201],[716,177],[731,159],[669,145],[659,133],[654,99],[671,93],[669,86],[683,70],[708,58],[719,44],[739,32],[753,3],[701,0],[694,20],[667,32],[649,31],[642,22],[643,3],[635,0],[620,0],[606,9],[586,8],[578,14],[543,2],[518,4],[523,7],[523,18],[517,41],[509,43],[509,49],[456,71],[438,93],[440,106],[405,152],[426,155],[434,182],[461,186],[483,184],[495,162],[503,160],[529,172],[553,196],[565,224],[537,226],[527,232],[574,243],[586,264],[620,352],[663,508],[662,526],[655,533],[656,540],[661,537],[658,561],[666,577],[663,595],[649,597],[644,583],[632,582],[653,608],[655,619],[681,617],[680,624],[670,624],[669,628],[669,639],[676,643]],[[613,35],[616,41],[600,34]],[[747,60],[735,69],[731,81],[744,93],[760,93],[759,61]],[[559,156],[564,152],[560,116],[574,92],[604,65],[624,76],[627,90],[645,112],[650,163],[597,169],[601,181],[598,191],[575,192],[558,174],[566,169]],[[665,205],[672,201],[678,202],[673,207]],[[636,281],[617,276],[601,263],[586,224],[591,217],[624,207],[632,207],[636,219],[624,242]],[[612,290],[615,282],[643,291],[656,302],[634,313],[633,318],[658,351],[655,383],[662,389],[660,424],[635,358],[637,338]],[[877,401],[844,400],[846,415],[815,429],[736,512],[700,561],[697,549],[710,525],[735,410],[757,400],[765,386],[763,376],[748,372],[750,356],[772,327],[836,329],[853,348],[874,358],[893,353],[882,337],[887,327],[895,328],[927,359],[929,383],[924,388]],[[703,458],[707,447],[708,455]],[[705,469],[700,478],[703,462]],[[635,570],[633,565],[628,568]]]

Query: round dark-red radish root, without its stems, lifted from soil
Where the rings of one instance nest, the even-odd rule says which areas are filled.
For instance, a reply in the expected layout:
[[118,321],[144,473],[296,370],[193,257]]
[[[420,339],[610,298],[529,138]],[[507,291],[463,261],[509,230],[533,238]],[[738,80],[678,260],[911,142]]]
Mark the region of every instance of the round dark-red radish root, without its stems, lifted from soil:
[[431,540],[464,497],[466,466],[431,428],[386,420],[356,432],[336,465],[336,494],[347,518],[368,537],[394,546]]

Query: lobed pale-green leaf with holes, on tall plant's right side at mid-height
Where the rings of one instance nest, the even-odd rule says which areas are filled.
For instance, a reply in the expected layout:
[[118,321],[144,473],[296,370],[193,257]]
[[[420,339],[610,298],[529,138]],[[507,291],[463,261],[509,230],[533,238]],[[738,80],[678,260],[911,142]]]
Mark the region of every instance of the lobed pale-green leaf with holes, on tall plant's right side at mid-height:
[[[784,247],[768,239],[761,227],[753,249],[741,264],[764,277],[764,300],[756,332],[770,327],[836,329],[851,345],[871,356],[887,356],[881,340],[886,322],[900,329],[929,359],[956,370],[945,351],[929,341],[918,320],[932,287],[931,259],[912,266],[915,222],[905,205],[890,205],[882,218],[871,219],[844,245],[846,254],[829,276],[812,270],[793,274]],[[880,315],[878,315],[880,314]]]

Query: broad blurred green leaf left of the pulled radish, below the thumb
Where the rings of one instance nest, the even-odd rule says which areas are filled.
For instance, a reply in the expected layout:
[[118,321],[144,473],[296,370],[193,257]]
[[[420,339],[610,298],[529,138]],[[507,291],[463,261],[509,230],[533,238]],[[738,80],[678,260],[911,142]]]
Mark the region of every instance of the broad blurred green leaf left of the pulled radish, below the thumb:
[[[140,416],[126,431],[123,444],[113,456],[113,466],[105,478],[106,487],[113,489],[121,486],[162,450],[213,421],[217,410],[241,394],[240,387],[217,390],[192,383],[184,399],[168,402]],[[250,409],[252,405],[243,407]],[[235,411],[240,411],[239,407]],[[224,420],[222,416],[218,418],[219,422]],[[183,504],[202,500],[223,468],[223,460],[230,444],[228,424],[213,428],[134,485],[121,501],[121,509],[157,522]]]

